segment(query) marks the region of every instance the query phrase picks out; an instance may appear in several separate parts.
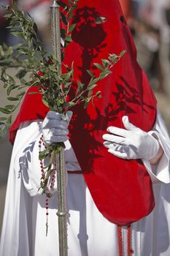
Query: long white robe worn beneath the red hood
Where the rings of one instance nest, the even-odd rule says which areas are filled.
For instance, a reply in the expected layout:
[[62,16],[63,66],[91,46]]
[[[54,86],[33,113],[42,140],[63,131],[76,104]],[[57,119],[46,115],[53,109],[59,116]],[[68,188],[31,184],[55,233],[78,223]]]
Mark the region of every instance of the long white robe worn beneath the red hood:
[[[159,111],[153,132],[158,136],[164,154],[155,167],[143,161],[153,181],[156,206],[148,217],[132,225],[134,256],[170,255],[170,141]],[[49,203],[46,236],[46,198],[36,195],[39,185],[32,178],[33,172],[34,175],[37,173],[38,181],[41,176],[38,159],[41,133],[41,121],[25,122],[18,129],[9,169],[0,256],[59,255],[56,192]],[[74,159],[73,152],[71,158]],[[74,160],[67,167],[77,170]],[[66,195],[70,214],[69,256],[117,256],[117,226],[98,211],[82,174],[68,175]],[[124,244],[126,231],[123,228]]]

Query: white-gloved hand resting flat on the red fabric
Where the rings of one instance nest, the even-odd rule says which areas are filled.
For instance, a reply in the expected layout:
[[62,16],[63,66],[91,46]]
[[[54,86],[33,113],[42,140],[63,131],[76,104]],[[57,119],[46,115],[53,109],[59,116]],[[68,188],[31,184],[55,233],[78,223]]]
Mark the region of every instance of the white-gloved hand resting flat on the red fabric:
[[108,152],[123,159],[151,159],[159,150],[159,143],[150,132],[144,132],[135,127],[128,120],[128,116],[122,118],[125,129],[108,127],[112,133],[103,135],[104,146]]

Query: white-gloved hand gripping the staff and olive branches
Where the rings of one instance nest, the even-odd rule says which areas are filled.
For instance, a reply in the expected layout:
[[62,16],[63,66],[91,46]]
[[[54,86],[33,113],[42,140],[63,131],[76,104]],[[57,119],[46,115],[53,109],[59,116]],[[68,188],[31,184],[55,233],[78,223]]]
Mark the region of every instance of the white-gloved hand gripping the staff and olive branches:
[[68,127],[71,118],[72,111],[63,114],[55,111],[47,113],[45,120],[42,122],[42,134],[47,145],[68,140]]

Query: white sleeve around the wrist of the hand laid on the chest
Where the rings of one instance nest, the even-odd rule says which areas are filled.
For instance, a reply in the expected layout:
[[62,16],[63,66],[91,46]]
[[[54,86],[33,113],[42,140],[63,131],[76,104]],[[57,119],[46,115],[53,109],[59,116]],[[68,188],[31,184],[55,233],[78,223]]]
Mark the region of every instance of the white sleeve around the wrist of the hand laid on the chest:
[[160,110],[157,111],[155,126],[150,134],[154,135],[161,144],[164,154],[157,165],[150,165],[148,160],[142,159],[153,183],[170,183],[169,176],[169,159],[170,159],[170,140],[166,129],[166,124],[163,121]]

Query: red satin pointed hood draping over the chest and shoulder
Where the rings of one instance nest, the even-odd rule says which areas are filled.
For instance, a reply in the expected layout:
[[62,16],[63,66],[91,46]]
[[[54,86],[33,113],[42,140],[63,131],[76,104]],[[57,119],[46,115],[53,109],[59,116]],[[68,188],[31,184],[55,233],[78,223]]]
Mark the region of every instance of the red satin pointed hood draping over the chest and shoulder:
[[[107,20],[98,24],[98,17]],[[74,80],[87,84],[86,69],[107,59],[109,53],[126,50],[112,68],[112,75],[98,83],[102,98],[74,109],[70,124],[70,141],[84,173],[98,210],[110,222],[128,225],[147,216],[154,207],[150,176],[140,160],[123,160],[112,156],[103,146],[102,135],[109,126],[123,127],[122,116],[149,131],[155,123],[156,101],[144,72],[136,62],[136,49],[117,0],[80,0],[74,13],[77,23],[73,42],[66,48],[64,63],[74,61]],[[69,97],[72,97],[74,91]],[[40,95],[27,94],[18,118],[12,125],[10,139],[23,121],[44,118],[47,108]]]

